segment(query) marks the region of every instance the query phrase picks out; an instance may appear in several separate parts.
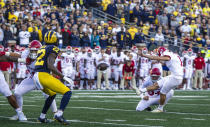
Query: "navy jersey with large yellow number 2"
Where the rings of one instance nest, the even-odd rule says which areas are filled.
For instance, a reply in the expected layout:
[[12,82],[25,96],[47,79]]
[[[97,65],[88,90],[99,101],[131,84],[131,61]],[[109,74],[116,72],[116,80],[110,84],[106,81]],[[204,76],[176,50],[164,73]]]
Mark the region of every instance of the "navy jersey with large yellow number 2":
[[54,45],[45,45],[42,46],[37,52],[37,59],[35,62],[35,72],[47,72],[50,73],[50,70],[47,67],[47,58],[51,53],[58,55],[59,48]]

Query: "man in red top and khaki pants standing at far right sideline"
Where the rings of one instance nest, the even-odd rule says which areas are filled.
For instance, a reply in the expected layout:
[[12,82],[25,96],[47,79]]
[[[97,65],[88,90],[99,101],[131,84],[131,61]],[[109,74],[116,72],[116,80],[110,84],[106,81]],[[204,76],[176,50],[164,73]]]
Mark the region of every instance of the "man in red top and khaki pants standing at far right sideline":
[[197,54],[198,56],[194,59],[194,68],[195,68],[195,78],[194,78],[194,84],[193,89],[197,89],[197,81],[199,78],[199,85],[198,89],[203,88],[203,75],[205,70],[205,60],[203,57],[201,57],[201,53]]

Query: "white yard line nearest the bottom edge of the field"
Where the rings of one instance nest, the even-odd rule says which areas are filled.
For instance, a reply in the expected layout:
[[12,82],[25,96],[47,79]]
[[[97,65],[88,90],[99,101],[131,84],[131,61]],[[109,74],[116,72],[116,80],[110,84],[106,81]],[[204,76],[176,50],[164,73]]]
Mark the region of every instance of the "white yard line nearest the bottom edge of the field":
[[[10,118],[6,116],[0,116],[1,118]],[[28,119],[36,119],[36,118],[28,118]],[[51,119],[49,119],[51,120]],[[164,126],[150,126],[150,125],[136,125],[136,124],[121,124],[121,123],[106,123],[106,122],[92,122],[92,121],[83,121],[83,120],[67,120],[72,123],[89,123],[89,124],[100,124],[100,125],[115,125],[115,126],[130,126],[130,127],[164,127]],[[24,123],[38,123],[33,121],[24,121]]]

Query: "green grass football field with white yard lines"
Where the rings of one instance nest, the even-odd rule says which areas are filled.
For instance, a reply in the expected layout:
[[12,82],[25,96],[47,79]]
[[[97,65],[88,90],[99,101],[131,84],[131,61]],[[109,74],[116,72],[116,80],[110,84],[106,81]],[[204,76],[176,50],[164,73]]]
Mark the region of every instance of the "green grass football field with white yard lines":
[[[58,105],[60,99],[58,95]],[[73,91],[64,116],[72,127],[210,127],[210,91],[175,91],[166,112],[159,114],[136,112],[139,100],[132,91]],[[0,127],[60,127],[57,122],[36,122],[43,103],[40,92],[26,94],[23,111],[28,121],[11,121],[15,112],[0,96]],[[47,118],[52,117],[49,110]]]

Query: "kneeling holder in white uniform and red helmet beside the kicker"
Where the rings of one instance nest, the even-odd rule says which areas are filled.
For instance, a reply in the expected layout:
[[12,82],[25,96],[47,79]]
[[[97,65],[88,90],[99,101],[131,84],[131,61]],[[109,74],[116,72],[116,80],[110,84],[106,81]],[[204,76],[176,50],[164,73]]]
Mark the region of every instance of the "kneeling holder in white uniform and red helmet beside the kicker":
[[[157,82],[160,79],[162,79],[160,70],[158,68],[153,68],[151,70],[150,76],[145,78],[145,81],[142,84],[141,89],[153,85],[153,83]],[[151,111],[151,107],[150,107],[151,105],[158,105],[159,100],[160,100],[161,87],[158,88],[157,90],[142,93],[141,94],[142,99],[138,103],[136,107],[136,111],[143,111],[145,109],[147,109],[148,111]],[[174,90],[170,90],[170,92],[166,94],[166,103],[172,98],[173,94],[174,94]]]

